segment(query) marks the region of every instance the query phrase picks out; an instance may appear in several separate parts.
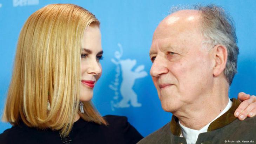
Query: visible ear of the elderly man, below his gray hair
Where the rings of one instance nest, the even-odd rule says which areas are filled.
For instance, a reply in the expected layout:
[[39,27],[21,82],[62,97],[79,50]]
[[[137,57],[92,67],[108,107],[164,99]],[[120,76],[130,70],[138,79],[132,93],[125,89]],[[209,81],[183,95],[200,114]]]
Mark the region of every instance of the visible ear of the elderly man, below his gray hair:
[[228,51],[227,48],[223,45],[214,46],[215,50],[215,66],[213,75],[218,76],[224,71],[228,59]]

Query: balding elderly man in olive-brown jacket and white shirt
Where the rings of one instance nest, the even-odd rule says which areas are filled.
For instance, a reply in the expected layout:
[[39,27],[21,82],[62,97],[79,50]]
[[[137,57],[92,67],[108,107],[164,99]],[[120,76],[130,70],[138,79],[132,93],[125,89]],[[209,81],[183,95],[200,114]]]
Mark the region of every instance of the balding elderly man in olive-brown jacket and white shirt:
[[234,112],[240,102],[228,97],[236,43],[231,19],[214,5],[177,11],[160,22],[150,74],[162,108],[173,117],[139,144],[256,142],[256,118],[239,121]]

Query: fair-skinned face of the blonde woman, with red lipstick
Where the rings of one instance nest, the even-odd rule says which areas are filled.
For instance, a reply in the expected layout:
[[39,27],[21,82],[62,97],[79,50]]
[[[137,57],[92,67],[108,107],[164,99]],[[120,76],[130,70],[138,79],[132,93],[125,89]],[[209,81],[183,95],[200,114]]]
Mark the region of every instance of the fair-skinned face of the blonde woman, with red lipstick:
[[102,54],[100,29],[96,25],[89,26],[83,33],[82,40],[81,101],[92,99],[94,85],[102,73],[100,64],[100,60],[103,58]]

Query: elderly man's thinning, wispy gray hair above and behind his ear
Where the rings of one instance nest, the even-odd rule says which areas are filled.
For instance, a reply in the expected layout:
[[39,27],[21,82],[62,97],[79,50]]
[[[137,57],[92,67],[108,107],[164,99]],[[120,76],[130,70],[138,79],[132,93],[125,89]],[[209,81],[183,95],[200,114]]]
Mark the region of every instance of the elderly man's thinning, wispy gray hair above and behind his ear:
[[194,9],[202,14],[202,34],[207,40],[203,42],[204,46],[222,44],[227,48],[228,59],[224,75],[229,85],[231,85],[237,73],[237,55],[239,54],[233,19],[222,7],[216,5],[173,6],[170,13],[182,9]]

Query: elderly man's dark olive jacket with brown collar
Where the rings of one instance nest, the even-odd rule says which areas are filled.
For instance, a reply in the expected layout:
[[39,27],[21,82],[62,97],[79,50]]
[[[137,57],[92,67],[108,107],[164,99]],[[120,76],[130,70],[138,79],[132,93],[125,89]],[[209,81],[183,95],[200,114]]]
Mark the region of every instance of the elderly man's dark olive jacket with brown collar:
[[[199,134],[196,144],[256,143],[256,117],[240,121],[234,116],[240,102],[235,98],[232,101],[231,108],[209,125],[208,132]],[[173,116],[170,123],[138,144],[187,144],[186,138],[180,135],[178,118]]]

